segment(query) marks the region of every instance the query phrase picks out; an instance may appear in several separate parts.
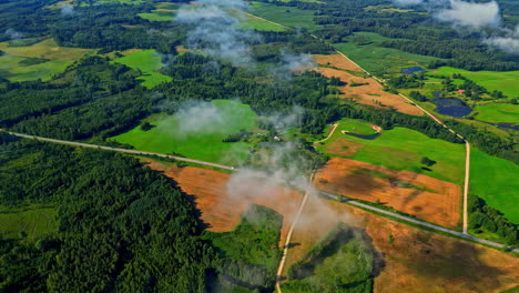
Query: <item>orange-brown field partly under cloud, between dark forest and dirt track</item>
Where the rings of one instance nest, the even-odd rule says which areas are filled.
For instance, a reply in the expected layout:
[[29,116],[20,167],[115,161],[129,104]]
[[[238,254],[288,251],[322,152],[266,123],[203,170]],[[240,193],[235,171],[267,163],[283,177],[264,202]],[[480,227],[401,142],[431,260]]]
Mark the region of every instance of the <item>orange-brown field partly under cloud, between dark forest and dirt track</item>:
[[[303,199],[299,192],[281,186],[265,189],[261,182],[251,181],[243,182],[250,186],[250,192],[242,191],[238,196],[231,195],[227,192],[230,174],[193,166],[166,168],[164,164],[147,161],[151,169],[163,171],[166,176],[179,183],[182,191],[194,196],[196,209],[201,211],[201,219],[208,225],[208,231],[232,231],[250,204],[258,204],[283,215],[279,246],[284,245],[292,219]],[[258,196],[258,190],[262,189],[264,194]]]

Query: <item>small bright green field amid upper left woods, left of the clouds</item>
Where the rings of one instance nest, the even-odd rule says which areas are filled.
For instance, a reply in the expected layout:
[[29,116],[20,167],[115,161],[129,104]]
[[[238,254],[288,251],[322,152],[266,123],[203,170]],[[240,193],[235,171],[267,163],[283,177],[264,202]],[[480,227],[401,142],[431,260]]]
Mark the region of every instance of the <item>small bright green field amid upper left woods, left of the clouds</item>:
[[138,79],[143,80],[141,83],[147,89],[152,89],[163,82],[170,82],[173,79],[171,77],[155,72],[162,68],[161,57],[155,50],[145,50],[136,53],[132,53],[125,57],[113,60],[126,67],[140,70],[143,75]]

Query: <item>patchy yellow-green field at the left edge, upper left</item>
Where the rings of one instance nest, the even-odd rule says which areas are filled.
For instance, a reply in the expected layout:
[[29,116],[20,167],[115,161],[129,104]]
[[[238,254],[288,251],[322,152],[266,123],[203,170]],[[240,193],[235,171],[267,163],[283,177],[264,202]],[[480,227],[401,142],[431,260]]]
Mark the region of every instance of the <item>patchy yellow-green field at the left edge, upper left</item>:
[[72,62],[95,51],[59,47],[52,39],[35,43],[31,40],[22,41],[0,43],[0,50],[6,52],[4,55],[0,55],[0,74],[10,81],[49,80],[52,75],[63,72]]

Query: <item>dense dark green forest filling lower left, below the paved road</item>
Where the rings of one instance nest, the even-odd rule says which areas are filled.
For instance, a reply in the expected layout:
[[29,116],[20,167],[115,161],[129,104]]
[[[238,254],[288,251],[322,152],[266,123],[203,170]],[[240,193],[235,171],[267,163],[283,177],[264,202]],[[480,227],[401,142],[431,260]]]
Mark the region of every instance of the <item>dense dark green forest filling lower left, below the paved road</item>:
[[215,260],[191,200],[136,159],[0,133],[0,202],[58,228],[2,239],[2,292],[205,292]]

